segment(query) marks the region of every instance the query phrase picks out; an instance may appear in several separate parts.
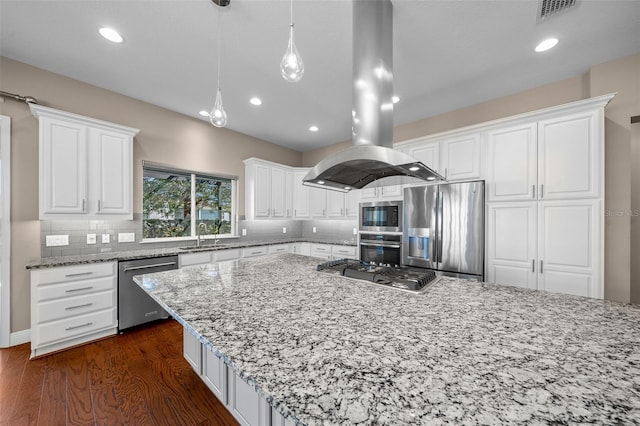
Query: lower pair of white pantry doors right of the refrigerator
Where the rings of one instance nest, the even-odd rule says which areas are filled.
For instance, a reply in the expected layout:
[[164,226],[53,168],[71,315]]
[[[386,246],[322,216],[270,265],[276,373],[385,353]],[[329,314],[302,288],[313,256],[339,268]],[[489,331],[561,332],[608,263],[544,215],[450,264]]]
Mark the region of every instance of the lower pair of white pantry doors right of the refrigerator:
[[487,281],[602,298],[601,201],[493,203]]

